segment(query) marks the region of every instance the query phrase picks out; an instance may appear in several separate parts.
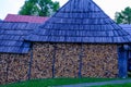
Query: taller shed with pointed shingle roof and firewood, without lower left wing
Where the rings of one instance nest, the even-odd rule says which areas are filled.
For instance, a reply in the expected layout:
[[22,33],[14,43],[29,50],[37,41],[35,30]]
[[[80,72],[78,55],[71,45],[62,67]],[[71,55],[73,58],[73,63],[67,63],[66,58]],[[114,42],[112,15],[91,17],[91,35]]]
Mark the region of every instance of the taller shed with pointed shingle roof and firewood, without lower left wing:
[[34,77],[127,77],[131,36],[93,0],[69,0],[25,39]]

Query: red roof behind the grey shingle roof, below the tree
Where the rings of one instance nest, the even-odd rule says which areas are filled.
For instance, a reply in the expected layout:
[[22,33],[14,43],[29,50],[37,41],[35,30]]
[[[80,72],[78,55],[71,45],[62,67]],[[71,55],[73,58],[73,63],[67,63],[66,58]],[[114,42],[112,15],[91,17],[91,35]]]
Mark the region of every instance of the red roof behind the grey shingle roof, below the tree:
[[28,22],[28,23],[43,23],[47,21],[48,17],[43,16],[31,16],[31,15],[16,15],[8,14],[4,18],[5,22]]

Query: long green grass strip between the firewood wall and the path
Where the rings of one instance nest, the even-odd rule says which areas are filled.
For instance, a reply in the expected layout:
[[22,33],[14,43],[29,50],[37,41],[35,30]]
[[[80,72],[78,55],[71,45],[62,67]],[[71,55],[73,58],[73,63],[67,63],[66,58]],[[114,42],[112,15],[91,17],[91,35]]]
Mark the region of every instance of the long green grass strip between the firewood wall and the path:
[[21,83],[0,85],[0,87],[49,87],[58,85],[71,85],[81,83],[95,83],[105,80],[115,80],[118,78],[46,78],[46,79],[32,79]]

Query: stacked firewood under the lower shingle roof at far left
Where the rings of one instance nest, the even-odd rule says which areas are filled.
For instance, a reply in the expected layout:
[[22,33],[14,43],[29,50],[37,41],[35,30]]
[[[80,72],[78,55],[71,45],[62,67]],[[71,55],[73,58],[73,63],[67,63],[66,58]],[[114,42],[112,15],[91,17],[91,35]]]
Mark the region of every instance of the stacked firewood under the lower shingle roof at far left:
[[0,84],[27,79],[29,54],[0,54]]

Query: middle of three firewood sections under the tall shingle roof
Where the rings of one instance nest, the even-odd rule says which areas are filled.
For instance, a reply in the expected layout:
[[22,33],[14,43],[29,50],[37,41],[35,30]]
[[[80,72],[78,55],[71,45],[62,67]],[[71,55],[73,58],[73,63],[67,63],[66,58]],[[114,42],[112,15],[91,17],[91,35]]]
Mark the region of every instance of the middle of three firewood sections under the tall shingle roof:
[[56,48],[56,77],[78,77],[80,46],[57,44]]

